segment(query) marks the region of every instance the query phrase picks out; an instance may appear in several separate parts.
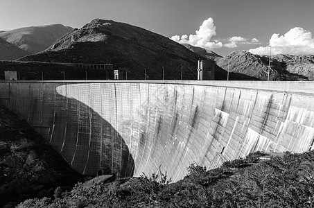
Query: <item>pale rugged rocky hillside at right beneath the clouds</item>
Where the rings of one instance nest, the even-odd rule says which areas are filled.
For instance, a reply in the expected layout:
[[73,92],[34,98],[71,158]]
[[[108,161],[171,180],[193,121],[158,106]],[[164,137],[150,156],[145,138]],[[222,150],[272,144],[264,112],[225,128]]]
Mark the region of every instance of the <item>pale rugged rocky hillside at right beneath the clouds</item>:
[[[255,55],[247,51],[234,51],[224,58],[216,58],[216,64],[228,70],[268,79],[267,55]],[[270,63],[270,80],[313,80],[314,55],[274,55]]]

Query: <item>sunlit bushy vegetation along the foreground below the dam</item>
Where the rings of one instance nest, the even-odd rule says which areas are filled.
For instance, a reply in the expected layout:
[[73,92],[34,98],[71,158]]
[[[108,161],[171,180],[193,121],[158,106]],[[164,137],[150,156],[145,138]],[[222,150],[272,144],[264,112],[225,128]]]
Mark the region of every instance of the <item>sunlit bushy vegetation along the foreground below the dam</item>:
[[166,173],[94,185],[53,198],[30,199],[17,207],[313,207],[314,151],[265,157],[253,153],[207,171],[191,164],[170,183]]

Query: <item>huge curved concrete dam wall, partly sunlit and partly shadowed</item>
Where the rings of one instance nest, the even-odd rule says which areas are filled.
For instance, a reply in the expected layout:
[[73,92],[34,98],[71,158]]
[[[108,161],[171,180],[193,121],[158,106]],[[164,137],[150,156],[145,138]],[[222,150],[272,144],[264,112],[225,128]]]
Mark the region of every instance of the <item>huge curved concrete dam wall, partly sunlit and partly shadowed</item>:
[[313,149],[314,83],[254,81],[0,82],[0,102],[78,172],[118,177],[252,153]]

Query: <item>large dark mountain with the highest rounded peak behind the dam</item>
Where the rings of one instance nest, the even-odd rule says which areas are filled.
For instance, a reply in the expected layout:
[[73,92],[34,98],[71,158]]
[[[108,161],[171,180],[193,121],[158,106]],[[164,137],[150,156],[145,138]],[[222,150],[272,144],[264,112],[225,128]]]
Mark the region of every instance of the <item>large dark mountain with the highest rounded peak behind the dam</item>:
[[128,78],[196,79],[200,55],[157,33],[112,20],[94,19],[21,61],[110,63],[128,70]]

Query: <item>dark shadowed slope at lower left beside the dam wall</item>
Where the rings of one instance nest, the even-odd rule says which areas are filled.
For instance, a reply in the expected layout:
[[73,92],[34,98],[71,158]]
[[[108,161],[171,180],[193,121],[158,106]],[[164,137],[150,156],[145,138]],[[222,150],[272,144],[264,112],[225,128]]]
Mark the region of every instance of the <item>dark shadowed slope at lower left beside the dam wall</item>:
[[83,181],[30,125],[0,105],[0,207],[53,196]]

